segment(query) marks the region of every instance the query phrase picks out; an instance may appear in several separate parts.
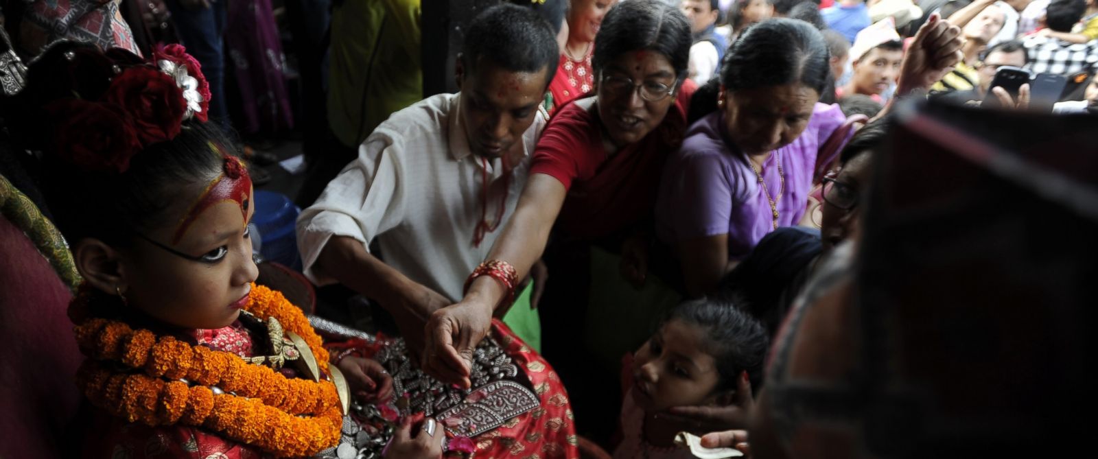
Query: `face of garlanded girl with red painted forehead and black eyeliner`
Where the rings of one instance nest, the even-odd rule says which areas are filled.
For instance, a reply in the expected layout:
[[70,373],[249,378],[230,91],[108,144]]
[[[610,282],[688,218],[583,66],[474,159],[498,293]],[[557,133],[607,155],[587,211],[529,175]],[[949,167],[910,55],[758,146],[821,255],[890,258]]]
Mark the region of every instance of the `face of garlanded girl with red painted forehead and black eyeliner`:
[[128,304],[167,325],[221,328],[232,324],[243,306],[239,300],[247,296],[259,273],[246,231],[255,210],[250,182],[225,195],[214,195],[214,188],[208,193],[208,184],[181,192],[171,204],[169,223],[145,233],[199,260],[135,238],[120,261]]

